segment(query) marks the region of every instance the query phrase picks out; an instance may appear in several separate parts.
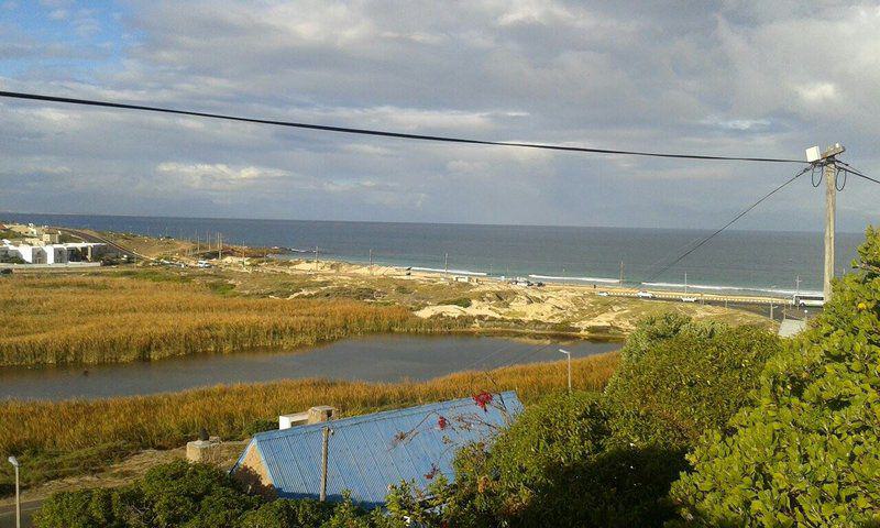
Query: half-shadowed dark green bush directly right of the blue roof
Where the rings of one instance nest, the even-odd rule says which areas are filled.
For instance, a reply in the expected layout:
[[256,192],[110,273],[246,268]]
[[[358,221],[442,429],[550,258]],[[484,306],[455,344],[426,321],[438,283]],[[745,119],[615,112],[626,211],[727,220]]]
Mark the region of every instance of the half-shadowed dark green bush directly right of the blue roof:
[[679,457],[606,449],[609,435],[597,395],[548,397],[493,446],[461,449],[453,485],[443,477],[427,490],[403,483],[389,510],[424,526],[661,526],[672,512],[666,497]]

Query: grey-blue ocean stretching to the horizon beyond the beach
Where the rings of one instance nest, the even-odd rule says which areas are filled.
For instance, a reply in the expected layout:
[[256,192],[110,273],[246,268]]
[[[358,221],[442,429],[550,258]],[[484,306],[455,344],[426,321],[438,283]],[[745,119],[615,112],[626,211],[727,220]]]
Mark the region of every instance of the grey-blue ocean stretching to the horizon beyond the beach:
[[[448,268],[450,273],[531,276],[535,280],[613,284],[624,263],[626,284],[790,295],[822,290],[822,233],[725,231],[671,270],[664,264],[710,231],[674,229],[334,222],[87,215],[0,213],[0,221],[207,238],[284,246],[319,257]],[[850,268],[861,233],[837,233],[836,271]],[[800,276],[800,285],[795,279]]]

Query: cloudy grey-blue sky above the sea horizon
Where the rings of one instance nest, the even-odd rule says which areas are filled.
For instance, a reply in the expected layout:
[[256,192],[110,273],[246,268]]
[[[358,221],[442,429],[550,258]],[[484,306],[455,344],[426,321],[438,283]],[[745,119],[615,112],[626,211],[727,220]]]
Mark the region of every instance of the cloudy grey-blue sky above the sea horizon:
[[[480,140],[842,156],[880,178],[880,3],[0,0],[0,90]],[[800,167],[0,99],[0,210],[711,229]],[[740,229],[823,228],[802,177]],[[880,218],[850,178],[838,228]]]

